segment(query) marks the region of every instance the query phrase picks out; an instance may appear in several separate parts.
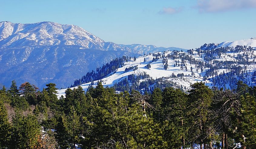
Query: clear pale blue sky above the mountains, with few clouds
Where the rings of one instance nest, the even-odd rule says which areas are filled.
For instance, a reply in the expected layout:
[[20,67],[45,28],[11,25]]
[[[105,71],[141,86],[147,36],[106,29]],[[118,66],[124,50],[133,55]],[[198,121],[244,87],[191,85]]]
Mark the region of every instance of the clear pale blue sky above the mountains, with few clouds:
[[105,41],[195,48],[256,37],[256,0],[5,0],[0,21],[75,24]]

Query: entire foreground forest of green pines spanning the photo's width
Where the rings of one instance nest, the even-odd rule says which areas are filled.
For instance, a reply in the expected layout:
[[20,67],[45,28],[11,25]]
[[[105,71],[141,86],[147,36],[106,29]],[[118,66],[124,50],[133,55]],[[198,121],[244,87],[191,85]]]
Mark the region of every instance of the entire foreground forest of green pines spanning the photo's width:
[[[18,89],[13,81],[10,90],[3,87],[1,148],[256,146],[256,87],[241,81],[235,90],[209,89],[204,83],[195,83],[188,94],[166,87],[144,95],[135,90],[117,94],[99,82],[86,94],[81,86],[67,89],[60,99],[55,84],[46,86],[37,91],[24,83]],[[15,109],[11,122],[8,105]],[[25,115],[32,107],[33,112]]]

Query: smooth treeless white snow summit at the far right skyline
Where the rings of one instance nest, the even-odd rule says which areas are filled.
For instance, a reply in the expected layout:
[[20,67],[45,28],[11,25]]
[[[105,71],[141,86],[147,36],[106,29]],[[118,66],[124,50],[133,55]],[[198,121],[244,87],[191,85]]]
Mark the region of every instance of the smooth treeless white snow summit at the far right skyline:
[[246,47],[256,47],[256,38],[237,40],[237,41],[225,41],[218,45],[218,47],[236,47],[237,45]]

